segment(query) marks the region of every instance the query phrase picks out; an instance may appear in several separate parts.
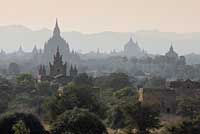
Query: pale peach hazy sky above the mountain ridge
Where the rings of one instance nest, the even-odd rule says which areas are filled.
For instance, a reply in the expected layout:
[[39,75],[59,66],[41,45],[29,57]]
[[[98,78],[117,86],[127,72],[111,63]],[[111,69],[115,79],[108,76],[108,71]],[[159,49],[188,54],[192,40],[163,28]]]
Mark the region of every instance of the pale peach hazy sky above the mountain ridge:
[[0,25],[62,30],[200,32],[200,0],[0,0]]

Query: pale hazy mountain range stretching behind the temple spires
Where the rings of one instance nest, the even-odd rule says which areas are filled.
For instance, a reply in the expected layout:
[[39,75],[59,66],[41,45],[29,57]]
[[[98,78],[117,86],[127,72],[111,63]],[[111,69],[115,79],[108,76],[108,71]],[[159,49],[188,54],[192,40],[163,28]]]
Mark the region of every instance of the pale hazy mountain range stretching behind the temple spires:
[[[49,29],[33,31],[21,25],[1,26],[0,48],[6,51],[15,51],[20,45],[22,45],[26,51],[31,51],[34,45],[37,45],[38,48],[43,48],[45,41],[47,41],[51,35],[52,31]],[[113,49],[121,51],[131,35],[134,41],[138,41],[140,48],[148,53],[165,54],[172,42],[175,51],[178,52],[179,55],[193,52],[200,54],[200,32],[178,34],[159,31],[139,31],[134,33],[108,31],[84,34],[74,31],[62,31],[62,36],[69,42],[70,48],[81,52],[97,51],[98,48],[100,51],[106,52]],[[191,62],[197,62],[197,60],[193,60],[192,58],[197,56],[187,56],[187,59],[191,60]]]

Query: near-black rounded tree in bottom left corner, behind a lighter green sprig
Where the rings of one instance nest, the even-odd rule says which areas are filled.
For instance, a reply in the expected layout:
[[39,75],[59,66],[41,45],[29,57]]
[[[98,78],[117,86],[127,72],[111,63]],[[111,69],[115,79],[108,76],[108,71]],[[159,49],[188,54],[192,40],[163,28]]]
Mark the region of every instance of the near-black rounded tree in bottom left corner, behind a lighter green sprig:
[[[39,119],[28,113],[9,113],[4,114],[0,118],[0,132],[2,134],[15,134],[13,128],[16,128],[16,123],[23,121],[26,129],[30,130],[30,134],[44,134],[45,129]],[[17,129],[17,128],[16,128]]]

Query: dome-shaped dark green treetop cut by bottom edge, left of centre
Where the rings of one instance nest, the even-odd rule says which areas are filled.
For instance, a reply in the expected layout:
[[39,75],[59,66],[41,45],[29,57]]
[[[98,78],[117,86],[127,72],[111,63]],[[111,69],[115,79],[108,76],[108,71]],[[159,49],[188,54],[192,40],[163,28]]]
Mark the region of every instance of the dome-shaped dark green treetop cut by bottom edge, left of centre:
[[64,112],[52,125],[52,134],[107,134],[100,119],[85,110],[73,109]]

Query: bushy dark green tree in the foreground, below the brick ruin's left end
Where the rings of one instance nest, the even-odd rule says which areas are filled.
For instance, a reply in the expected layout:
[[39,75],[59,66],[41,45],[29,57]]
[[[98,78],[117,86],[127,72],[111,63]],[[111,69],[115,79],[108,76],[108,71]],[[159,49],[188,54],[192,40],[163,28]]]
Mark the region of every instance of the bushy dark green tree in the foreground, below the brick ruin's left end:
[[159,112],[139,102],[121,102],[111,109],[107,123],[113,129],[124,129],[128,134],[136,129],[138,134],[149,134],[160,127]]

